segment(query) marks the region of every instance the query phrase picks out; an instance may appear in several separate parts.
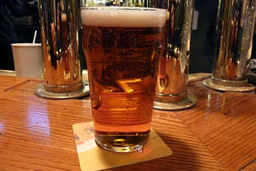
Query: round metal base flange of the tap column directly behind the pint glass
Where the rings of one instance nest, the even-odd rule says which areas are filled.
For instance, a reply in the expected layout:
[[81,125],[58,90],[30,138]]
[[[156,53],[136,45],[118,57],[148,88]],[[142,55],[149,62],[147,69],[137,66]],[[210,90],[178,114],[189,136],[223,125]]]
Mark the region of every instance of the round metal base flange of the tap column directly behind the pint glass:
[[182,110],[189,109],[193,107],[197,102],[197,97],[194,93],[187,92],[187,97],[183,101],[178,101],[174,103],[166,103],[154,101],[154,109],[162,109],[162,110]]

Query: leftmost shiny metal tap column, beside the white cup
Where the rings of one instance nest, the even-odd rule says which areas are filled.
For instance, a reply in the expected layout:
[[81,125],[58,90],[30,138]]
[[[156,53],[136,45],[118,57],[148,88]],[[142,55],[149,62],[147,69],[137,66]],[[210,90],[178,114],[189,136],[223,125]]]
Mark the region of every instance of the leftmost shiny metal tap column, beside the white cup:
[[[42,31],[42,89],[47,93],[36,93],[46,96],[50,93],[77,92],[78,94],[73,93],[74,96],[80,96],[83,93],[79,56],[79,30],[82,31],[80,2],[39,0],[38,6]],[[69,96],[70,94],[67,97]]]

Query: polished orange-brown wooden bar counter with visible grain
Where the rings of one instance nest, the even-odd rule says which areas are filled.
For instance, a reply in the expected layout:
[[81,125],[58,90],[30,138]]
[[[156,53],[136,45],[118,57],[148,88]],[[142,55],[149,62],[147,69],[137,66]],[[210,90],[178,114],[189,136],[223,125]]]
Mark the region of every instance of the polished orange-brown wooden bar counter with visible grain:
[[[38,97],[41,80],[0,75],[0,170],[80,170],[72,125],[92,121],[90,97]],[[154,109],[173,154],[110,170],[256,170],[256,95],[191,82],[191,109]]]

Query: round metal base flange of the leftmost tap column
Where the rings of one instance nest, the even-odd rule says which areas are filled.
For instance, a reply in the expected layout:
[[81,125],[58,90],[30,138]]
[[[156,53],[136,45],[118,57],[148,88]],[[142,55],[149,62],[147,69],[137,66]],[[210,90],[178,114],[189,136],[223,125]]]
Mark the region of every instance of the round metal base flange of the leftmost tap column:
[[78,98],[78,97],[84,97],[89,94],[89,84],[88,82],[82,82],[83,88],[73,91],[73,92],[67,92],[67,93],[51,93],[44,89],[43,85],[38,86],[34,90],[34,93],[38,95],[38,97],[44,97],[44,98],[52,98],[52,99],[66,99],[66,98]]

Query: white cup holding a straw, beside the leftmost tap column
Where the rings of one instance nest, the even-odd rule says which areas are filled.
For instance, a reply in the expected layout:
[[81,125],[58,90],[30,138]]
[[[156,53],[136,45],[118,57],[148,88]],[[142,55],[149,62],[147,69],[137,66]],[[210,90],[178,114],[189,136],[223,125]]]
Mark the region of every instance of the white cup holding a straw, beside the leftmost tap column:
[[41,43],[13,43],[11,46],[16,76],[42,78]]

